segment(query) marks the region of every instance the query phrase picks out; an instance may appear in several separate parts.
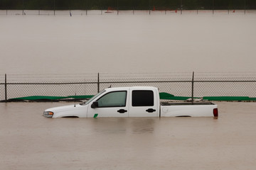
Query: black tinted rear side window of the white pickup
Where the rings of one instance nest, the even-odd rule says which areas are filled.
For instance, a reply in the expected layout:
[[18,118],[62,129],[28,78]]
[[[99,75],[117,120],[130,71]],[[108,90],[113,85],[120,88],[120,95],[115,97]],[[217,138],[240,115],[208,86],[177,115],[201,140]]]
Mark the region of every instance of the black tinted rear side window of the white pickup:
[[132,106],[154,106],[154,92],[132,91]]

